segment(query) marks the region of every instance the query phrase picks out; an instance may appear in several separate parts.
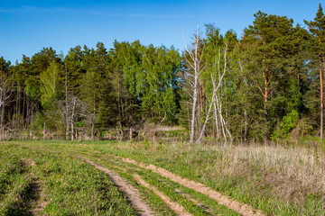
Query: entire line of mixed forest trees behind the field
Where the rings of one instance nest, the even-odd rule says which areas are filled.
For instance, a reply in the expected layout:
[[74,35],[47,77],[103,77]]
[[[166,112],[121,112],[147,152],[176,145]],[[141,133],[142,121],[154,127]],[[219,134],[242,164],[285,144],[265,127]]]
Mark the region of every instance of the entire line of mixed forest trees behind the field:
[[322,139],[321,5],[305,24],[258,12],[241,39],[206,24],[181,54],[135,40],[67,56],[44,48],[15,65],[0,58],[1,138],[95,139],[107,130],[123,138],[153,123],[183,125],[190,142]]

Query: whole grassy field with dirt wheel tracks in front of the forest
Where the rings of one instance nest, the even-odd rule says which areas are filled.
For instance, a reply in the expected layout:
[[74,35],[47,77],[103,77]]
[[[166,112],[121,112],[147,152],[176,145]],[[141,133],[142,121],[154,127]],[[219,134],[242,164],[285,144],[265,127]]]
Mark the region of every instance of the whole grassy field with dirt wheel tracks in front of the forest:
[[0,215],[324,215],[319,148],[0,143]]

